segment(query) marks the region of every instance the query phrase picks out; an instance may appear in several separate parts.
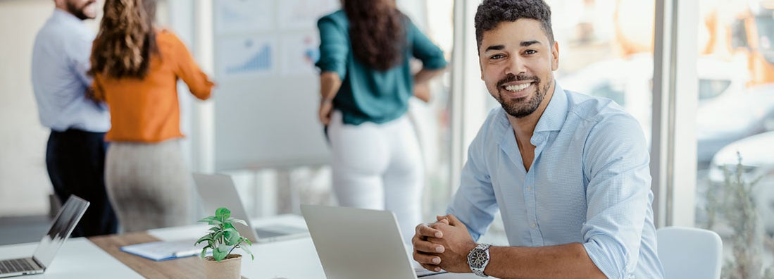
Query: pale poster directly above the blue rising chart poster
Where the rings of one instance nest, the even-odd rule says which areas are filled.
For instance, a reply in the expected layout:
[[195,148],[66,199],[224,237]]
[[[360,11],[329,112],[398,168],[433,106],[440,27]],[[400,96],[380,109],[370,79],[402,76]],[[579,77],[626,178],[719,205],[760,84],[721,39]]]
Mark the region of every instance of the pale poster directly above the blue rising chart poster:
[[217,0],[213,4],[216,35],[276,29],[274,0]]

